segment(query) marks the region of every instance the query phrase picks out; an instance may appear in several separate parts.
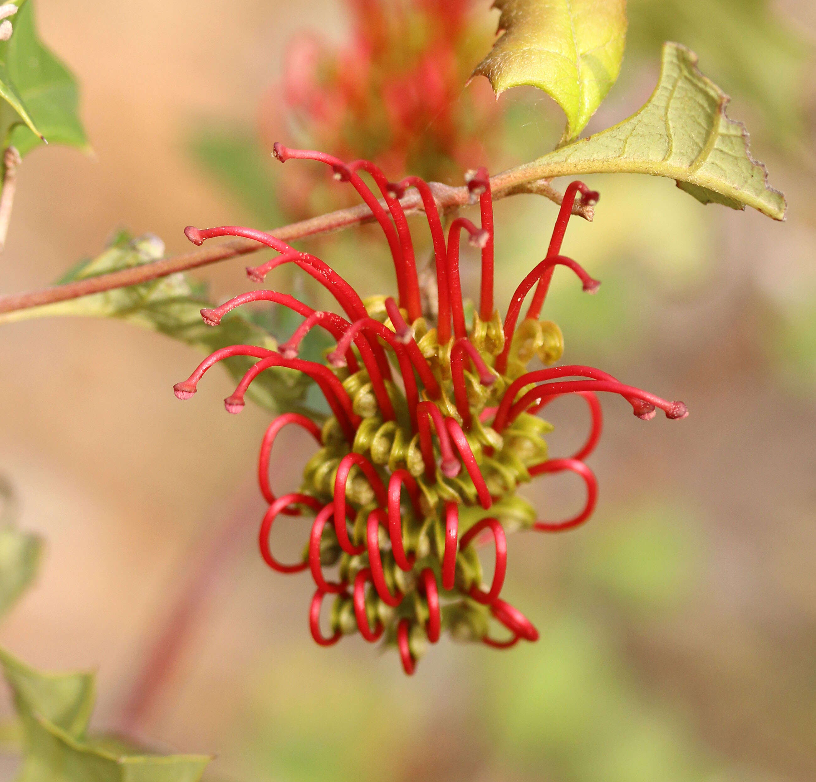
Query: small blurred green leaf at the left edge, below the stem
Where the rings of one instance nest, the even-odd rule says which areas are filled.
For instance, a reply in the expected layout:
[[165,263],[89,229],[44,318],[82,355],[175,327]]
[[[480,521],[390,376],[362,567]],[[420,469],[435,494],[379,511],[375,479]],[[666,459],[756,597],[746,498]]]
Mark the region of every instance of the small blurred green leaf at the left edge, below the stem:
[[15,514],[11,484],[0,475],[0,616],[16,603],[37,575],[42,540],[13,526]]

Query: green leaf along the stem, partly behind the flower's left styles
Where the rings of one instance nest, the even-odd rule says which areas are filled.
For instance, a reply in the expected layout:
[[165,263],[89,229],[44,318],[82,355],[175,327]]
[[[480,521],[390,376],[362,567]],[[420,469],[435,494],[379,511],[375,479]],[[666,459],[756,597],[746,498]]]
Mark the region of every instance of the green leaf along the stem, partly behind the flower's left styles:
[[[128,234],[121,233],[99,257],[80,263],[59,282],[71,282],[139,266],[162,258],[163,254],[164,243],[157,236],[149,234],[133,239]],[[201,316],[202,308],[212,306],[206,298],[203,285],[197,285],[184,274],[173,274],[142,285],[131,285],[45,307],[10,312],[0,316],[0,324],[26,320],[29,317],[119,318],[211,353],[221,347],[237,344],[259,345],[274,350],[277,340],[271,329],[277,325],[278,318],[288,318],[288,311],[283,307],[273,307],[271,317],[255,315],[252,311],[244,314],[246,308],[243,308],[228,313],[221,320],[221,325],[212,327],[206,325]],[[324,344],[323,337],[317,329],[309,337],[302,354],[304,358],[315,358],[315,352],[319,353]],[[255,362],[243,356],[235,356],[221,363],[238,379]],[[186,368],[180,371],[184,374]],[[274,412],[295,411],[320,418],[324,411],[309,407],[306,401],[312,386],[313,381],[303,373],[274,367],[259,375],[247,395],[257,404]]]

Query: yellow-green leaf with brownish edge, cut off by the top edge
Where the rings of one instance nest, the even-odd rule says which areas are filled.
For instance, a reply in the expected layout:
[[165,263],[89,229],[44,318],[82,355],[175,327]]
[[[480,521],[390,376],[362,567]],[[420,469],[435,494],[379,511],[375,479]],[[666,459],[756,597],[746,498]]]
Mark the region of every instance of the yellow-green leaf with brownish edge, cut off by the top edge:
[[539,87],[564,110],[564,141],[578,137],[620,73],[626,0],[495,0],[503,35],[473,75],[496,95]]

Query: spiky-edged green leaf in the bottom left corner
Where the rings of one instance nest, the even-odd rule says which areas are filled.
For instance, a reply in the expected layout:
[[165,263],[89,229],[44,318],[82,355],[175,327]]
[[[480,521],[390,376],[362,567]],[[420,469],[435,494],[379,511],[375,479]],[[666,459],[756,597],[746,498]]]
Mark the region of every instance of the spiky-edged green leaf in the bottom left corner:
[[146,755],[122,741],[86,739],[93,674],[42,674],[0,648],[0,665],[20,718],[18,782],[196,782],[206,755]]

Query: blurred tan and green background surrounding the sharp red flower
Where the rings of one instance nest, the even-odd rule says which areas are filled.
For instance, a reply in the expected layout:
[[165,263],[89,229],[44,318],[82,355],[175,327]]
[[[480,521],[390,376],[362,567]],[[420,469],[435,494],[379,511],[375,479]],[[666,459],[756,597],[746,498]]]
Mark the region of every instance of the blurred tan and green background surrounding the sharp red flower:
[[[810,0],[775,13],[814,40]],[[173,254],[186,250],[185,225],[251,221],[188,139],[211,118],[255,125],[295,30],[339,38],[345,29],[330,0],[39,0],[38,18],[80,80],[95,157],[46,148],[26,159],[0,255],[4,293],[47,285],[115,228],[155,232]],[[268,413],[226,415],[230,382],[215,373],[181,405],[171,387],[196,351],[134,325],[68,319],[0,327],[0,471],[16,485],[21,526],[47,540],[42,575],[2,626],[2,643],[38,667],[98,669],[95,725],[117,727],[202,541],[237,519],[188,652],[143,729],[159,746],[217,753],[215,776],[816,778],[808,62],[800,99],[809,125],[797,145],[766,128],[753,146],[787,193],[787,223],[704,209],[669,182],[598,177],[596,222],[570,226],[565,251],[605,288],[583,301],[566,281],[555,287],[566,357],[685,400],[691,415],[645,424],[605,402],[596,517],[567,536],[509,541],[506,593],[539,627],[538,645],[497,653],[443,642],[411,680],[395,654],[359,638],[315,647],[311,581],[268,571],[256,553],[263,506],[253,478]],[[655,75],[654,63],[629,73],[599,121],[639,105]],[[759,117],[748,99],[735,98],[730,113]],[[512,259],[502,306],[555,215],[532,197],[497,209],[497,251]],[[220,301],[246,288],[244,265],[199,276]],[[348,272],[364,289],[381,285]],[[557,404],[552,447],[565,453],[584,411]],[[295,436],[282,445],[295,449],[277,487],[297,482],[310,452]],[[556,517],[578,490],[565,480],[528,496]]]

